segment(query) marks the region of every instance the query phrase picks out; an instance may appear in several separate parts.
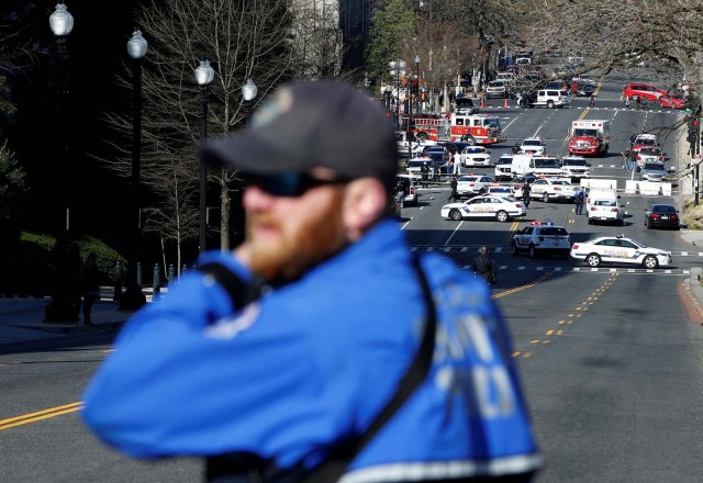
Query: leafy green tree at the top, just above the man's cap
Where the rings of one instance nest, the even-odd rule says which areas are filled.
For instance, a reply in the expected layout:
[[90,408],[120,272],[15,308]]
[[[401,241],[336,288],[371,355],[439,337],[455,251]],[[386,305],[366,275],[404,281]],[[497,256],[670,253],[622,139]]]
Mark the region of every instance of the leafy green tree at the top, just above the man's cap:
[[[366,60],[371,76],[389,76],[388,63],[402,58],[416,37],[416,20],[405,0],[379,0],[371,16],[371,44]],[[412,63],[412,58],[404,60]]]

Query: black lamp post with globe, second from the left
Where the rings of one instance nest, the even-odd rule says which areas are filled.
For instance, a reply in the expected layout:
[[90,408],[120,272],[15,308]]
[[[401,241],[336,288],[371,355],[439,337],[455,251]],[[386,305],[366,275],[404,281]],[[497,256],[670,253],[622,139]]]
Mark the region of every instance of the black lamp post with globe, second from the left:
[[[142,231],[142,193],[141,193],[141,171],[142,171],[142,59],[146,55],[148,43],[142,36],[142,32],[135,30],[127,41],[127,54],[132,58],[132,188],[131,212],[136,215],[129,223],[130,233],[130,258],[131,267],[127,271],[125,292],[120,295],[120,308],[136,310],[146,303],[146,296],[142,292],[138,276],[140,245]],[[136,225],[133,223],[136,222]]]

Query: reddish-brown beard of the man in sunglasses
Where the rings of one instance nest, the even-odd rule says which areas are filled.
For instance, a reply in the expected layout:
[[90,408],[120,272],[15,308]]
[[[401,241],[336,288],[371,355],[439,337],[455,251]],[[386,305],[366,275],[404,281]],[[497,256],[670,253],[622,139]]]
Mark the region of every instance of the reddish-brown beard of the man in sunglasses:
[[[270,213],[247,213],[250,269],[267,280],[292,280],[337,254],[347,243],[338,204],[330,203],[313,220],[284,232],[284,223]],[[267,236],[258,229],[265,227]]]

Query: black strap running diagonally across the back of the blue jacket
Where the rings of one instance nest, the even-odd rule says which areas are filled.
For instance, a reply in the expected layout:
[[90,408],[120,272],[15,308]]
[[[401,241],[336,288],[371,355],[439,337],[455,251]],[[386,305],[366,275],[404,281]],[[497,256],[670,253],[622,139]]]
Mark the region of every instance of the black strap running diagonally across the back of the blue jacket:
[[423,300],[425,301],[427,314],[425,330],[423,333],[420,347],[415,352],[415,357],[405,372],[405,375],[400,380],[395,393],[376,416],[366,431],[358,438],[343,445],[339,450],[334,451],[327,460],[309,473],[305,479],[302,480],[302,483],[333,483],[338,481],[346,472],[349,463],[352,463],[357,454],[361,452],[364,447],[376,437],[378,431],[391,419],[393,414],[395,414],[405,401],[408,401],[411,394],[420,386],[429,372],[435,347],[437,311],[435,308],[434,300],[432,299],[429,282],[420,266],[420,259],[413,256],[412,260],[413,268],[422,288]]

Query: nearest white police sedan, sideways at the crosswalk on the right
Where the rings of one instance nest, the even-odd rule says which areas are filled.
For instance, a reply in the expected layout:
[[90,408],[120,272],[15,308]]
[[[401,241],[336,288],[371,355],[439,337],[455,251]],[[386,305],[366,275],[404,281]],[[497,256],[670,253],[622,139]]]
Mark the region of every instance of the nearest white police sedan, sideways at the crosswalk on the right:
[[625,263],[655,269],[672,263],[671,251],[648,247],[641,242],[622,235],[577,242],[571,247],[571,258],[583,260],[589,267],[600,267],[601,263]]

